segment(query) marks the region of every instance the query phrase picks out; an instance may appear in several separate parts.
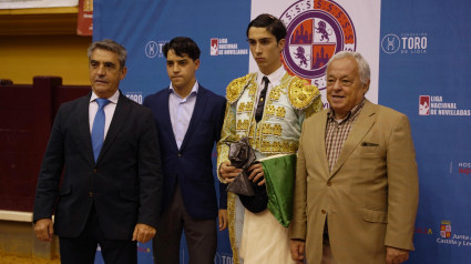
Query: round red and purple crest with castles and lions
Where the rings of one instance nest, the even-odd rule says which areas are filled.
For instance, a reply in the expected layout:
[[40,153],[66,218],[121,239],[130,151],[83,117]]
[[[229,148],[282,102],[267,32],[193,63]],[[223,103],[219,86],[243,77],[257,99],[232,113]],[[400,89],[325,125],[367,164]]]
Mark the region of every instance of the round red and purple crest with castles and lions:
[[287,26],[281,53],[285,68],[325,89],[329,59],[339,51],[356,50],[356,31],[348,12],[330,0],[301,0],[286,9],[280,20]]

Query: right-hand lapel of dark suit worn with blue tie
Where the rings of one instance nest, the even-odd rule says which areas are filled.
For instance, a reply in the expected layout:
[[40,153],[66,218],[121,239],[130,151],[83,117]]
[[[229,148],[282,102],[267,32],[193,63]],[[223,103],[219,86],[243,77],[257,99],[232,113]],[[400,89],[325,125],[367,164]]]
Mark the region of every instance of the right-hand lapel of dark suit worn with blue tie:
[[131,100],[124,97],[120,91],[120,99],[117,100],[116,109],[114,110],[113,119],[111,120],[110,128],[100,151],[100,155],[96,159],[96,163],[100,162],[106,150],[112,144],[114,138],[116,138],[117,132],[120,132],[121,126],[124,124],[124,121],[131,112]]

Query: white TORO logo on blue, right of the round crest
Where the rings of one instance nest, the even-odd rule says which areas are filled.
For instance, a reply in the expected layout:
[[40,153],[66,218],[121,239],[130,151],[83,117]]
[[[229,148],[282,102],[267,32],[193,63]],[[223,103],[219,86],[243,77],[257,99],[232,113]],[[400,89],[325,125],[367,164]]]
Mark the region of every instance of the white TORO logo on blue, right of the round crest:
[[400,51],[401,54],[423,54],[427,53],[428,37],[426,32],[420,33],[388,33],[381,39],[381,49],[385,53],[393,54]]

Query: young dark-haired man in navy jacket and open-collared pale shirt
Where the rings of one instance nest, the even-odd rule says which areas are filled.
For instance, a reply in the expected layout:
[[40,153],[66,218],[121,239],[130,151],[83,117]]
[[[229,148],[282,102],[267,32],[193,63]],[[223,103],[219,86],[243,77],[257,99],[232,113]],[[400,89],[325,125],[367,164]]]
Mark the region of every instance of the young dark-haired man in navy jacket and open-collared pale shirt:
[[149,95],[160,135],[164,191],[158,232],[153,241],[154,262],[180,263],[182,230],[190,263],[213,263],[219,230],[227,225],[227,194],[219,184],[219,213],[213,175],[212,152],[219,140],[225,99],[198,84],[199,49],[184,37],[163,48],[168,88]]

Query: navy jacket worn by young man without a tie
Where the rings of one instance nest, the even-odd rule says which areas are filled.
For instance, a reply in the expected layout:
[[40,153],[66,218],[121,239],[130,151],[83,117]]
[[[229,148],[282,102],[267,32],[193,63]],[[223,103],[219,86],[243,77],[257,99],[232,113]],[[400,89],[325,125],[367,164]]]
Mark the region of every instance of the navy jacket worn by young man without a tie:
[[[219,140],[226,100],[199,85],[195,109],[178,150],[168,111],[168,88],[145,98],[154,113],[164,171],[162,212],[170,204],[178,181],[186,211],[194,219],[217,216],[212,152]],[[217,181],[218,182],[218,181]],[[226,209],[227,193],[219,184],[219,207]]]

